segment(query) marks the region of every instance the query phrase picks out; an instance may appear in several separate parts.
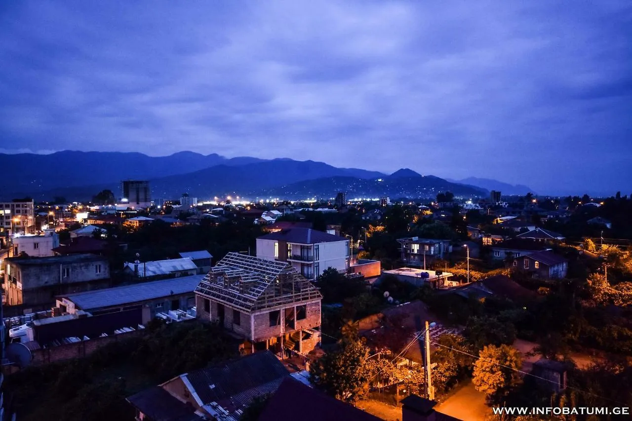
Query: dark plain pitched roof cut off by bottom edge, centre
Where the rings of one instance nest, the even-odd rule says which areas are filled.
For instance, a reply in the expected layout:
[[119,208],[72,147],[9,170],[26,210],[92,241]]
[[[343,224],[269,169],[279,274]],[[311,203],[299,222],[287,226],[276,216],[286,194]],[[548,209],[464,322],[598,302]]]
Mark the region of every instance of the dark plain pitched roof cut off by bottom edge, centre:
[[297,414],[300,414],[301,421],[380,420],[368,412],[331,398],[290,378],[284,380],[274,396],[270,398],[264,412],[259,416],[259,421],[293,419],[296,418]]

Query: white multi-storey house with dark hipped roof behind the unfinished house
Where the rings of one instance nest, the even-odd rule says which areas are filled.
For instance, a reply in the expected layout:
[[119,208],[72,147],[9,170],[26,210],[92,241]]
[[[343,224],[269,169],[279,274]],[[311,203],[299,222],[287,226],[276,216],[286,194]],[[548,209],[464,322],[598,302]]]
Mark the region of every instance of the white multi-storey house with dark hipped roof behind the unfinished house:
[[257,257],[290,262],[307,279],[329,267],[346,272],[350,264],[349,240],[315,229],[283,229],[257,238]]

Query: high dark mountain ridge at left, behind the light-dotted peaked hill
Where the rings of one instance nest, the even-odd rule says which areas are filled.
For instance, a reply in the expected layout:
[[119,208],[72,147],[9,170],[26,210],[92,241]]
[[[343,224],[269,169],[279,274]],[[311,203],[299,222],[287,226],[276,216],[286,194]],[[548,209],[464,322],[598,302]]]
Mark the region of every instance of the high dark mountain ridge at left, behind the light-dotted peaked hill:
[[[269,168],[248,168],[253,164],[271,162]],[[231,190],[230,178],[242,180],[237,188],[270,187],[299,180],[332,175],[349,175],[358,178],[384,176],[376,171],[344,168],[337,169],[322,162],[280,158],[273,160],[255,157],[226,158],[218,154],[202,155],[195,152],[178,152],[170,156],[150,157],[136,152],[78,152],[64,150],[49,155],[0,154],[0,168],[15,176],[0,180],[0,199],[31,196],[35,200],[52,200],[54,196],[87,200],[104,188],[119,194],[121,180],[156,180],[159,190],[167,197],[179,197],[183,192],[204,194],[211,190]],[[320,165],[318,165],[320,164]],[[223,166],[209,173],[197,171]],[[239,167],[230,171],[227,167]],[[335,170],[335,171],[334,171]],[[245,171],[245,172],[244,172]],[[270,173],[265,173],[271,171]],[[289,175],[293,173],[293,175]],[[190,174],[178,178],[182,174]],[[19,175],[19,176],[17,176]],[[172,177],[176,177],[173,178]],[[197,178],[200,177],[200,180]],[[209,180],[207,177],[219,178]],[[226,181],[224,185],[220,181]],[[267,180],[263,182],[263,180]],[[152,183],[152,190],[154,183]],[[234,188],[233,188],[234,189]]]

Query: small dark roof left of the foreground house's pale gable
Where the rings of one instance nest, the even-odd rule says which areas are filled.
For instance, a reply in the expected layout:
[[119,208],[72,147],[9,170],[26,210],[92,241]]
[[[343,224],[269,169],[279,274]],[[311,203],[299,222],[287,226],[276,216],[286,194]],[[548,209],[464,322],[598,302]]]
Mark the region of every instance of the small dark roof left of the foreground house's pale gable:
[[153,421],[202,420],[192,405],[179,401],[160,386],[145,389],[126,400]]

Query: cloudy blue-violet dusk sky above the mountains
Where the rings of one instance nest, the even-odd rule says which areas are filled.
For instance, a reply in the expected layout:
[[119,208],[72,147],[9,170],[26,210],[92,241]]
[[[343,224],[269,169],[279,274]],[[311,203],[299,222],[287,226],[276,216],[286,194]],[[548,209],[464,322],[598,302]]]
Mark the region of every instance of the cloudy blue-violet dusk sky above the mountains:
[[630,28],[629,0],[4,1],[0,152],[191,150],[629,194]]

